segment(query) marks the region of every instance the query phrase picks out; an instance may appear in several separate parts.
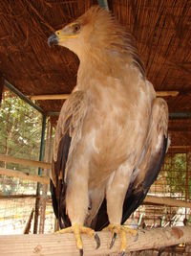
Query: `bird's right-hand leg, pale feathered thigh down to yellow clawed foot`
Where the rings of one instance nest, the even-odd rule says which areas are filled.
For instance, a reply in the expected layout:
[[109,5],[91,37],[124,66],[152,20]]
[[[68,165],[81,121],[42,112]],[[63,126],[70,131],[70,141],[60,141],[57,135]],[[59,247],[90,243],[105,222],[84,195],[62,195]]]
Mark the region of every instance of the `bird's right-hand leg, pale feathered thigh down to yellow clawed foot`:
[[107,213],[110,224],[104,230],[112,232],[113,239],[110,247],[114,245],[117,235],[120,237],[121,256],[124,255],[127,248],[126,234],[130,233],[135,237],[138,235],[135,229],[120,224],[123,202],[129,185],[129,175],[131,173],[127,175],[123,168],[117,170],[117,173],[111,177],[106,191]]

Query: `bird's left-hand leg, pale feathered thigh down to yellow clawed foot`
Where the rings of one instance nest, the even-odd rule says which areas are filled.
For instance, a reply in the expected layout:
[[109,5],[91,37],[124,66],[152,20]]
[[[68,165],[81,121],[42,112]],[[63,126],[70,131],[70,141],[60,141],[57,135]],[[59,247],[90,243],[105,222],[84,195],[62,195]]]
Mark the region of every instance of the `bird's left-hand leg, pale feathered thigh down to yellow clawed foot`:
[[[77,170],[77,168],[75,170]],[[83,255],[81,234],[86,234],[91,238],[95,238],[96,248],[99,247],[100,241],[94,229],[84,226],[84,221],[88,213],[89,196],[87,178],[85,178],[85,174],[82,174],[81,172],[82,171],[80,170],[71,172],[71,176],[69,176],[69,181],[67,183],[66,211],[72,226],[59,230],[56,233],[74,233],[76,246],[80,255]]]

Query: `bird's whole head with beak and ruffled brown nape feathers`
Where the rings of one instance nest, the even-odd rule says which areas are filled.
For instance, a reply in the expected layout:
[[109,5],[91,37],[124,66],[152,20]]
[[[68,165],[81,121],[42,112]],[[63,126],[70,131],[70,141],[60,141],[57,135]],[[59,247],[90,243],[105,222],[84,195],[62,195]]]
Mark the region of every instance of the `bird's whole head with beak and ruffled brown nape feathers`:
[[[106,68],[108,63],[114,65],[111,61],[114,57],[125,59],[125,62],[130,61],[138,66],[144,75],[143,64],[131,35],[119,26],[109,12],[98,6],[92,7],[74,22],[56,31],[49,37],[48,43],[50,46],[55,44],[70,49],[80,61],[86,58],[95,59],[97,63],[102,61]],[[116,62],[117,58],[113,60]]]

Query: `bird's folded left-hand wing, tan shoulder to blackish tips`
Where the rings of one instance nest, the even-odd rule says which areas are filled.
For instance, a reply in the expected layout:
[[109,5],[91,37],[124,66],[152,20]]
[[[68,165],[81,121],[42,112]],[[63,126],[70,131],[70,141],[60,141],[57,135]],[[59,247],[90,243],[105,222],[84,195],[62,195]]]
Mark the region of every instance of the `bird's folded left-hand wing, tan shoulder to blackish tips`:
[[67,167],[72,160],[73,152],[80,139],[86,109],[87,99],[85,93],[75,91],[62,106],[55,131],[50,189],[53,211],[59,221],[60,228],[71,225],[71,221],[66,214],[65,195],[67,184],[65,180],[68,171]]

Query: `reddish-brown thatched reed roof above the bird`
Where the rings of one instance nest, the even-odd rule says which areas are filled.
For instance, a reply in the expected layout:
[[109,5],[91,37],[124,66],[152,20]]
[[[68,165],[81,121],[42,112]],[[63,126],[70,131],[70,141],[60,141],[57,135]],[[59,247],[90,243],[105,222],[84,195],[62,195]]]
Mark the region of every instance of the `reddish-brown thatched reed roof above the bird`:
[[[76,82],[78,59],[67,49],[50,49],[47,38],[97,2],[0,1],[3,77],[28,96],[70,93]],[[108,0],[108,4],[118,21],[135,36],[147,77],[156,90],[179,92],[176,97],[165,97],[170,112],[191,112],[191,2]],[[63,101],[36,104],[45,111],[59,111]],[[172,129],[177,126],[172,124]]]

